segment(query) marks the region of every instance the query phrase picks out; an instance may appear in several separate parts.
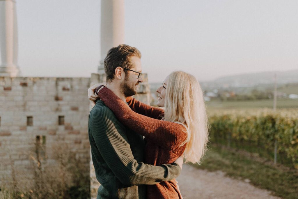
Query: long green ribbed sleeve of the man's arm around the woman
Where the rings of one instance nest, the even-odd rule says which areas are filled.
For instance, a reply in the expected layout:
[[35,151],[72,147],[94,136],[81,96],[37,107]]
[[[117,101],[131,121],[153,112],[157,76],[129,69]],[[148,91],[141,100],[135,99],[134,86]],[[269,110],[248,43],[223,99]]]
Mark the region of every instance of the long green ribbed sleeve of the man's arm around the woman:
[[92,142],[120,182],[129,186],[156,184],[178,177],[181,168],[176,163],[153,166],[137,162],[128,143],[125,127],[108,107],[96,108],[89,116]]

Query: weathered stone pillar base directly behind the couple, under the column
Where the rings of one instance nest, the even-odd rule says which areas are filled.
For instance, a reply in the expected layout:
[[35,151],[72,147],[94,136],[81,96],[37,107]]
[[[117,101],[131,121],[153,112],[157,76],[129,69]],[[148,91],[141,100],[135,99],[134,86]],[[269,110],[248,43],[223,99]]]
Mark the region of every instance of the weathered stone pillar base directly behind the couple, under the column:
[[[142,74],[143,82],[138,86],[138,93],[134,96],[139,101],[143,103],[150,104],[150,85],[148,84],[148,75]],[[97,83],[105,83],[105,74],[91,74],[91,82],[90,86]],[[90,108],[92,105],[90,103]],[[90,153],[91,157],[91,153]],[[100,183],[97,181],[94,171],[94,166],[92,163],[92,159],[90,159],[90,191],[91,191],[91,199],[95,199],[97,197],[97,189],[100,186]]]

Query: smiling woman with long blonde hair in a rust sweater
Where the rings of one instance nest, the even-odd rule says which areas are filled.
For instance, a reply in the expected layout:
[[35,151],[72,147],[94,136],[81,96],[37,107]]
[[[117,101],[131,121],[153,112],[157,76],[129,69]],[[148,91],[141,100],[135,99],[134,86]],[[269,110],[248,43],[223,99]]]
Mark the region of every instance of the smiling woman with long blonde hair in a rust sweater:
[[[186,72],[172,72],[164,80],[157,105],[160,109],[100,87],[98,97],[119,121],[145,136],[145,163],[173,163],[184,153],[187,162],[200,163],[208,142],[207,115],[200,84]],[[147,186],[147,198],[182,198],[176,180]]]

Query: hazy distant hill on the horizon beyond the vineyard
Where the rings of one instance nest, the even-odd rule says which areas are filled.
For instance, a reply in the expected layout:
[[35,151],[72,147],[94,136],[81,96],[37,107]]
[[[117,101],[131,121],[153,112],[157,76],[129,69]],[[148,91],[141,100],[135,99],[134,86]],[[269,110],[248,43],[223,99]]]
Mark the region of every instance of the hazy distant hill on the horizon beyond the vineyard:
[[277,74],[277,84],[298,82],[298,70],[271,71],[229,75],[214,81],[202,82],[203,87],[254,87],[259,84],[274,84],[274,74]]

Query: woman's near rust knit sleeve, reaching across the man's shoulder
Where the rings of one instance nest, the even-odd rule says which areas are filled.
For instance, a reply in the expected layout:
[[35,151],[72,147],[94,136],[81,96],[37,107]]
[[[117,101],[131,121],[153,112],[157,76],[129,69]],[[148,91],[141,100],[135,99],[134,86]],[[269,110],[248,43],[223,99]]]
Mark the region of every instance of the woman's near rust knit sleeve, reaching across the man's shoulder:
[[124,101],[106,87],[103,87],[98,95],[122,124],[163,148],[177,148],[187,138],[185,128],[181,124],[140,115],[132,111]]

